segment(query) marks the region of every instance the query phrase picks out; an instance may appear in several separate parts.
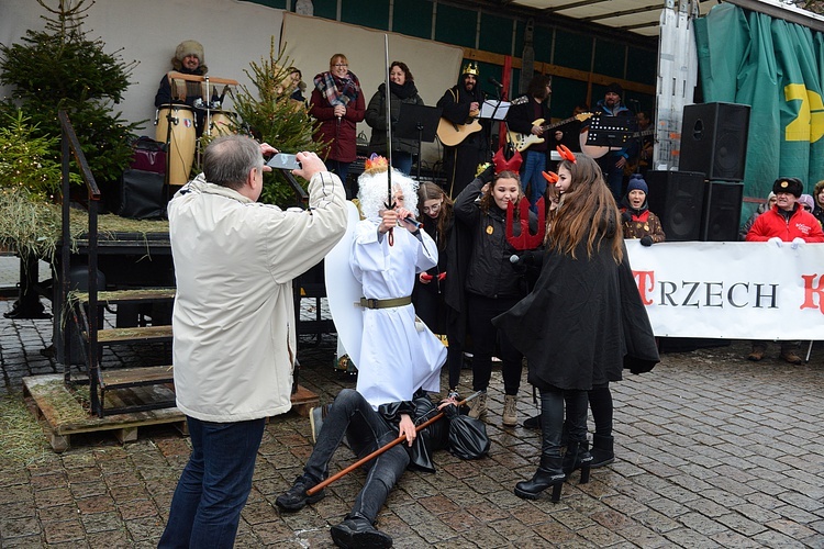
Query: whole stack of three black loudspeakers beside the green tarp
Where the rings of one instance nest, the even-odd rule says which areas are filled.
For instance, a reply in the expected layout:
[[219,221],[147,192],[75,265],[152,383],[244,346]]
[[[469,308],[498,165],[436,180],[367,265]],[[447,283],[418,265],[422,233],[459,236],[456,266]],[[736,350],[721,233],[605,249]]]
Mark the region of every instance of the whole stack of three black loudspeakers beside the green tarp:
[[683,108],[679,171],[647,171],[649,209],[668,242],[738,239],[749,105]]

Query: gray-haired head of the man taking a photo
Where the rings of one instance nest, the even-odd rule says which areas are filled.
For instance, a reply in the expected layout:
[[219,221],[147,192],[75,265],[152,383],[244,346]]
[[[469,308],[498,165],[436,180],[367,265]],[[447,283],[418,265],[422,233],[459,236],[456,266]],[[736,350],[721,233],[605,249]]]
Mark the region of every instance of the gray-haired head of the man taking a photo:
[[260,145],[245,135],[225,135],[209,144],[203,154],[207,181],[230,189],[240,189],[252,168],[263,170]]

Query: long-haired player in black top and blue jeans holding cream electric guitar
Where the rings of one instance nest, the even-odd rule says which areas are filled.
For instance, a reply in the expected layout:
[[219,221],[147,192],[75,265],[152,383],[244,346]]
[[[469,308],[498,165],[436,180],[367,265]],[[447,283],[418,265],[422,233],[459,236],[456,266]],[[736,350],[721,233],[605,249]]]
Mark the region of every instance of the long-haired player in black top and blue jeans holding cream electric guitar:
[[[546,192],[546,179],[542,172],[546,169],[548,142],[555,142],[555,133],[552,130],[545,132],[542,121],[549,121],[549,107],[547,99],[552,93],[552,77],[549,75],[537,75],[530,81],[526,93],[515,98],[506,113],[506,125],[512,132],[530,134],[541,137],[525,150],[521,152],[524,163],[521,166],[521,184],[524,187],[530,208],[536,212],[536,202]],[[552,133],[553,135],[544,135]],[[547,137],[552,139],[547,141]]]

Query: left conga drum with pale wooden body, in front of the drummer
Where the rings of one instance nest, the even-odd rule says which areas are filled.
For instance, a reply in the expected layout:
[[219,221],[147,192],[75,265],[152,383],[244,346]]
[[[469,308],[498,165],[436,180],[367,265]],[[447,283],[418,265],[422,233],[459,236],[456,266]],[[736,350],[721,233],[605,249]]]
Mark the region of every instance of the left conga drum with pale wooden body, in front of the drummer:
[[[169,124],[171,122],[171,124]],[[169,184],[186,184],[198,141],[194,111],[185,104],[165,104],[157,111],[155,141],[168,141]]]

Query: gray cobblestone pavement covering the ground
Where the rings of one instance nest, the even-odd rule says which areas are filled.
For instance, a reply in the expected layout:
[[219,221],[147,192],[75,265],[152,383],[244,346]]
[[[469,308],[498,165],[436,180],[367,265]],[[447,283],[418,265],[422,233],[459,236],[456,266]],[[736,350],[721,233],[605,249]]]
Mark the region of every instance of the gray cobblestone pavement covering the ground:
[[[5,312],[11,302],[0,302]],[[19,395],[24,376],[54,373],[41,350],[48,321],[0,324],[0,392]],[[803,349],[805,350],[805,348]],[[163,354],[165,350],[159,349]],[[396,547],[824,547],[824,346],[809,363],[746,361],[746,341],[667,354],[653,372],[613,384],[614,464],[577,474],[561,501],[512,493],[537,464],[537,432],[501,427],[502,380],[493,373],[488,458],[435,456],[437,473],[409,472],[390,495],[378,527]],[[334,339],[302,340],[302,383],[329,402],[354,378],[331,367]],[[127,363],[129,348],[108,352]],[[468,394],[470,372],[464,372]],[[535,411],[530,386],[522,416]],[[590,422],[591,424],[591,422]],[[5,547],[154,547],[189,455],[170,427],[140,432],[121,446],[107,433],[75,436],[64,453],[0,470],[0,545]],[[363,483],[356,472],[321,502],[280,515],[275,497],[311,451],[305,418],[268,424],[236,547],[331,547],[330,525]],[[352,462],[342,448],[332,471]]]

